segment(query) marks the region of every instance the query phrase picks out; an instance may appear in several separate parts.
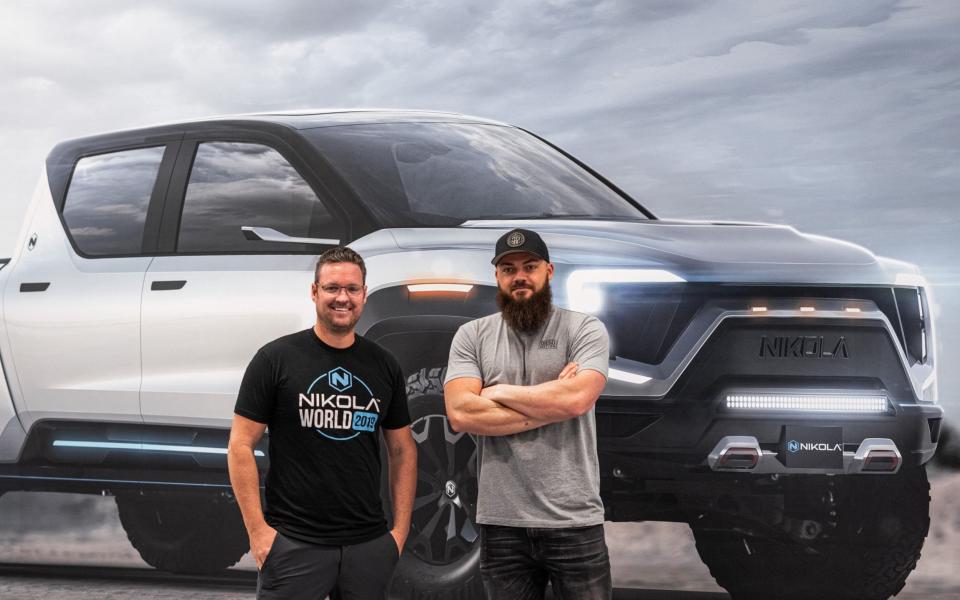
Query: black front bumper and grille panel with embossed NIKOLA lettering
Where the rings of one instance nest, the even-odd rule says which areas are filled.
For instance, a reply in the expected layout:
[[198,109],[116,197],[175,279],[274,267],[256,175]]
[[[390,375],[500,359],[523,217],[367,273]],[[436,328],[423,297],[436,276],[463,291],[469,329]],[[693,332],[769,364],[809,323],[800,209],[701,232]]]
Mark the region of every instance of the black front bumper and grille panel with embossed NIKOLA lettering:
[[[771,353],[771,340],[814,340],[842,354]],[[825,342],[826,340],[829,343]],[[899,465],[922,465],[936,451],[943,409],[920,401],[900,348],[882,319],[756,318],[720,323],[662,396],[630,396],[623,388],[596,405],[601,475],[650,480],[713,473],[711,453],[724,438],[755,441],[757,464],[731,469],[760,474],[862,474],[857,452],[864,440],[888,440]],[[754,395],[750,395],[754,394]],[[834,410],[731,406],[730,398],[776,399],[801,404],[811,397],[882,399],[880,409],[842,401]],[[838,409],[839,408],[839,409]],[[842,458],[820,468],[787,459],[788,432],[830,431]],[[890,450],[887,448],[886,450]],[[865,460],[865,459],[864,459]],[[891,459],[892,460],[892,459]],[[829,462],[829,461],[827,461]],[[825,463],[826,464],[826,463]],[[744,466],[744,465],[740,465]],[[727,474],[716,473],[717,475]]]

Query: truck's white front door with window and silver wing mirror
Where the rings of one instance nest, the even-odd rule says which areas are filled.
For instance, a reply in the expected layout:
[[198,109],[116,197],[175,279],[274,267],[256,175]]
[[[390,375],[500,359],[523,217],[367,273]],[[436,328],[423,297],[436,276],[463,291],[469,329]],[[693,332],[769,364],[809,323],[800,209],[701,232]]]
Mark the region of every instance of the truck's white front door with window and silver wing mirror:
[[143,287],[145,422],[228,427],[257,349],[316,321],[316,256],[346,219],[285,154],[249,138],[184,141],[161,233],[170,252]]

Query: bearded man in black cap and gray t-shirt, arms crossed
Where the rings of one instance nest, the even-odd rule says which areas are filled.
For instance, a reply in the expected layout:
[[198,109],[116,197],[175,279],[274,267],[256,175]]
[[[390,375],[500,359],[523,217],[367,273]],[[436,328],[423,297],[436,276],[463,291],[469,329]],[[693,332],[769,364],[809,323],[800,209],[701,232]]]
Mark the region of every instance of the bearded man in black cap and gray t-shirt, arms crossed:
[[464,324],[444,379],[447,417],[478,434],[480,569],[489,598],[608,599],[610,562],[593,405],[607,376],[598,319],[553,305],[553,265],[514,229],[493,264],[500,312]]

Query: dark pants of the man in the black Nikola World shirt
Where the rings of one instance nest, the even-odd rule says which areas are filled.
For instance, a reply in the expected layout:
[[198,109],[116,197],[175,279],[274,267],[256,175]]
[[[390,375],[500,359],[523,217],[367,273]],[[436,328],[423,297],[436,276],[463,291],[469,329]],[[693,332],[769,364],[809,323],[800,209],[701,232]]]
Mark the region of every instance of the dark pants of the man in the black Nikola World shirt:
[[323,600],[339,589],[342,600],[386,600],[400,558],[388,532],[350,546],[320,546],[277,532],[257,577],[258,600]]

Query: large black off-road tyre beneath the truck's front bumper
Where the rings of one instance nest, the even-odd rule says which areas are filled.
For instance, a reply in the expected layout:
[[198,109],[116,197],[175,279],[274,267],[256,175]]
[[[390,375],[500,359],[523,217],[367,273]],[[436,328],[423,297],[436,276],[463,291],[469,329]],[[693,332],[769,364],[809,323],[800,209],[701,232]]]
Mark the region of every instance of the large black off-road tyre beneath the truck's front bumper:
[[800,543],[691,523],[700,558],[735,600],[889,598],[916,567],[930,528],[926,471],[850,476],[837,492],[829,537]]

